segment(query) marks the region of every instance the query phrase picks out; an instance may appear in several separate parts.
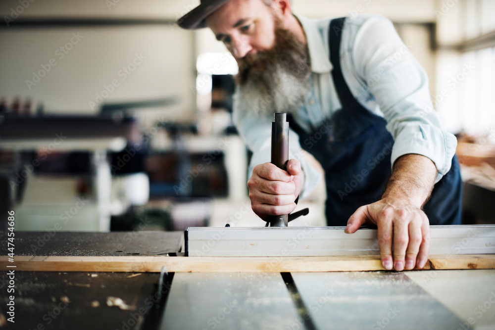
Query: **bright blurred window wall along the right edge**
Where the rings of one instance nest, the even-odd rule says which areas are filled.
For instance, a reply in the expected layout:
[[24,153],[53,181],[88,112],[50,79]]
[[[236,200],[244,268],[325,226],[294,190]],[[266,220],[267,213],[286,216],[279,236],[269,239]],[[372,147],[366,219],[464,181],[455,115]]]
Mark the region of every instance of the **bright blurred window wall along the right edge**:
[[437,1],[436,108],[446,118],[449,131],[492,134],[494,139],[490,128],[495,125],[495,50],[462,52],[460,47],[495,31],[495,1],[458,0],[446,5],[447,2]]

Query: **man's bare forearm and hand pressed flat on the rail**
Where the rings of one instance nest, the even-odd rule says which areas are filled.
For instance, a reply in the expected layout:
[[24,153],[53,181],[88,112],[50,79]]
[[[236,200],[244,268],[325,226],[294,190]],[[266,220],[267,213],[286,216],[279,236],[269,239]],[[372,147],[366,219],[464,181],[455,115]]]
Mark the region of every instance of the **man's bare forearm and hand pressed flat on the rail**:
[[365,223],[375,224],[385,269],[423,268],[430,253],[430,222],[421,207],[436,176],[435,164],[425,156],[397,158],[382,199],[358,208],[347,220],[345,232],[352,234]]

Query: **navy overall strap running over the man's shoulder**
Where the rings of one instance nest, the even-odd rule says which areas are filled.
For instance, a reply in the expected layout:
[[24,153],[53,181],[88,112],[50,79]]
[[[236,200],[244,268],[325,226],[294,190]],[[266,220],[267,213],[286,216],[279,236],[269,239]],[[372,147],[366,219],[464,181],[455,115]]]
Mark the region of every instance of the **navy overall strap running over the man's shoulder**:
[[330,46],[330,62],[333,65],[332,78],[334,80],[335,89],[339,95],[339,99],[342,103],[342,108],[354,108],[355,106],[361,107],[356,101],[352,93],[350,93],[347,87],[344,76],[342,75],[342,69],[340,65],[340,47],[342,40],[342,30],[346,17],[335,18],[330,21],[330,27],[328,31],[328,45]]

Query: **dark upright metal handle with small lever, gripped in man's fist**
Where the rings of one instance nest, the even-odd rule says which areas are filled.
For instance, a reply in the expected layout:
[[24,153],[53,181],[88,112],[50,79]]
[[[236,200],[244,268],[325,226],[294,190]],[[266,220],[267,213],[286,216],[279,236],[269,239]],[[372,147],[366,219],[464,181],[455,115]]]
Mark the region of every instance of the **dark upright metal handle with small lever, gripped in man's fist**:
[[[287,171],[287,162],[289,161],[289,123],[287,122],[287,114],[277,112],[274,114],[272,122],[272,149],[271,163]],[[294,212],[292,214],[271,215],[267,217],[265,227],[287,227],[289,221],[307,215],[307,208]]]

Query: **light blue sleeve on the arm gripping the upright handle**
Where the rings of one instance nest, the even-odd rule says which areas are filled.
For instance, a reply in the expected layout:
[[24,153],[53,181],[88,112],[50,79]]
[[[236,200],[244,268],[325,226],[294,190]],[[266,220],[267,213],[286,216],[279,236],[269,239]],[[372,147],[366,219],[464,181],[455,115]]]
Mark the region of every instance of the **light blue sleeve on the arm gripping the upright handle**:
[[[258,115],[249,113],[246,109],[243,109],[243,106],[234,102],[233,120],[239,134],[253,153],[247,174],[247,177],[250,178],[254,166],[270,162],[271,122],[273,118],[261,118]],[[320,173],[302,155],[302,152],[299,136],[293,130],[289,129],[289,159],[297,159],[304,172],[304,186],[299,199],[309,196],[321,177]]]

